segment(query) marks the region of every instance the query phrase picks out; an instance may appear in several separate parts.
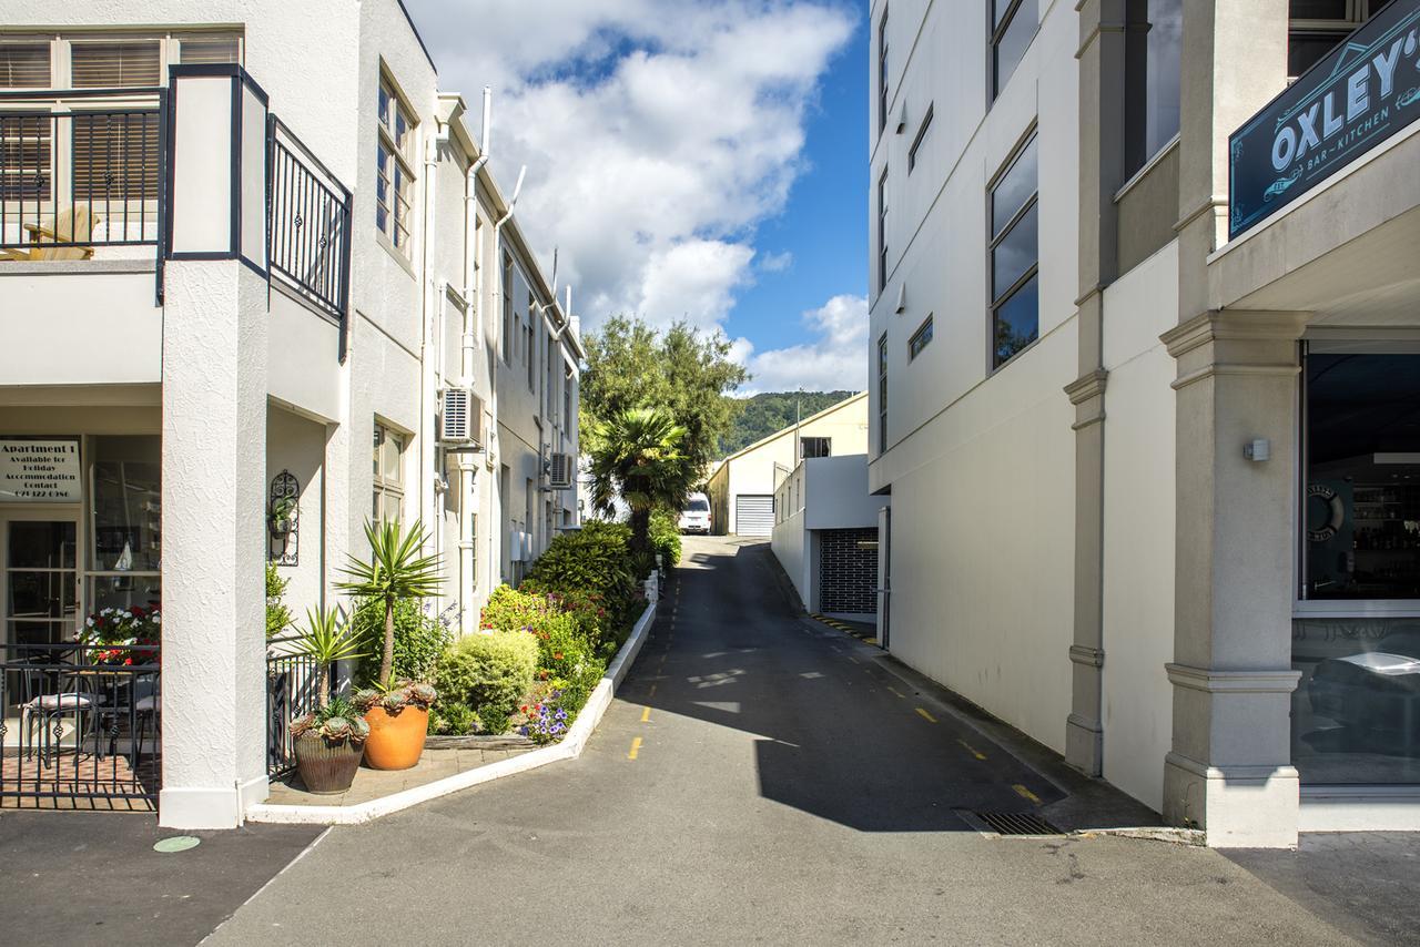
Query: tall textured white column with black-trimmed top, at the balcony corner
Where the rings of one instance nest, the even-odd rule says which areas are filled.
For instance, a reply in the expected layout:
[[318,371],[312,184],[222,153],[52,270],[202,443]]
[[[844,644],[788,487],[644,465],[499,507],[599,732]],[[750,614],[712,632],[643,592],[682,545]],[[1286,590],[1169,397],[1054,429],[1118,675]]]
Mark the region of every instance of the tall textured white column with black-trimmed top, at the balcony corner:
[[158,818],[223,829],[267,797],[267,111],[237,67],[170,88]]

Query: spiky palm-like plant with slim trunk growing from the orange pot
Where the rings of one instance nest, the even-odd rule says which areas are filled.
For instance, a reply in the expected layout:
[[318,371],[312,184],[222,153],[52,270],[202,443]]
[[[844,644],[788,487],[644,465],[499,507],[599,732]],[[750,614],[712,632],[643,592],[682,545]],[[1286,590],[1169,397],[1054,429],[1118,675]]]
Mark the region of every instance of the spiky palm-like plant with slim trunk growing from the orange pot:
[[348,582],[337,582],[335,588],[359,598],[373,598],[385,603],[385,650],[379,659],[378,684],[393,681],[395,664],[395,603],[405,598],[429,598],[439,593],[443,576],[439,574],[439,555],[423,555],[420,549],[429,542],[423,522],[416,521],[409,532],[400,532],[399,522],[381,520],[378,524],[365,521],[365,538],[369,541],[369,562],[349,557],[349,565],[341,569],[351,576]]

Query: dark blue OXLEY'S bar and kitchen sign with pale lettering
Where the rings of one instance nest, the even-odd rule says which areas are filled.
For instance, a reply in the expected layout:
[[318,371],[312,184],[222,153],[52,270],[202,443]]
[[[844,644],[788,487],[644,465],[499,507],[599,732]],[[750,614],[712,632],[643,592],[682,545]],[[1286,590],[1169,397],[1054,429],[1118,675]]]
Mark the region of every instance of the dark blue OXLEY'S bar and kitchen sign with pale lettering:
[[1393,0],[1228,139],[1228,239],[1420,118],[1420,0]]

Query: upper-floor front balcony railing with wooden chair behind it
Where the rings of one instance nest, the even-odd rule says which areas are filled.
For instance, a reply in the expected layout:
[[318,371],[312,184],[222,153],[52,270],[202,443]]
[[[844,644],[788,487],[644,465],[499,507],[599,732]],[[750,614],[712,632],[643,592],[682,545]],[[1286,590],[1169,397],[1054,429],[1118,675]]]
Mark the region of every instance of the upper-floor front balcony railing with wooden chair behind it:
[[0,92],[0,260],[158,246],[166,89]]

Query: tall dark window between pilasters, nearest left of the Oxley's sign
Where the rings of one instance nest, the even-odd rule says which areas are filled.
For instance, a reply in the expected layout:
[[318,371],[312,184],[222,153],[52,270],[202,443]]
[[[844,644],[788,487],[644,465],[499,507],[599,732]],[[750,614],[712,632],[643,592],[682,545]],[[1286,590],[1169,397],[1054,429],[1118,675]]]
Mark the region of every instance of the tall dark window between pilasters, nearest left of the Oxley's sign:
[[1183,0],[1129,0],[1125,31],[1125,175],[1179,133]]

